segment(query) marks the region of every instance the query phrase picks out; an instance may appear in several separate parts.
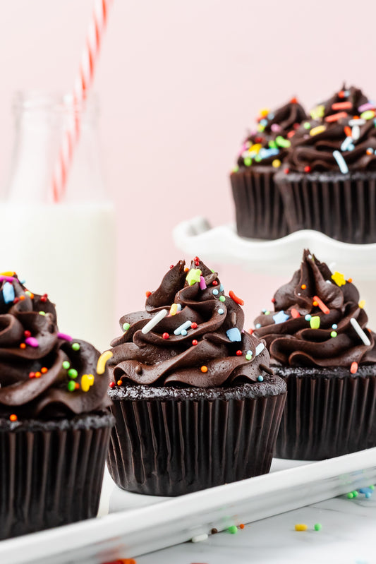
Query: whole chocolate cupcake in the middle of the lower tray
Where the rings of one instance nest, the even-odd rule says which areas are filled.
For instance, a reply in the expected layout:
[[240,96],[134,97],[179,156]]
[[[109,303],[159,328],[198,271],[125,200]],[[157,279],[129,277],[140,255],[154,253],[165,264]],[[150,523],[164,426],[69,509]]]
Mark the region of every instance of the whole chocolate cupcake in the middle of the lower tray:
[[108,467],[118,486],[178,496],[269,472],[286,384],[265,342],[243,331],[243,303],[217,272],[183,260],[123,316],[112,342],[116,424]]

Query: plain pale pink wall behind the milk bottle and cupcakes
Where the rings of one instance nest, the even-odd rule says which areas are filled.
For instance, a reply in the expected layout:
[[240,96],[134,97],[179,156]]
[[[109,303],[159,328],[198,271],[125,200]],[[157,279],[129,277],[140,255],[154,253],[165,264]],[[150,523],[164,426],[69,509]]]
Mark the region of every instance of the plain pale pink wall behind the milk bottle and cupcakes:
[[[310,107],[343,80],[375,97],[375,3],[351,6],[115,0],[95,89],[108,190],[119,210],[116,317],[142,308],[145,290],[181,258],[174,225],[195,215],[214,225],[234,220],[228,174],[260,107],[295,95]],[[2,186],[13,92],[71,89],[91,9],[92,0],[1,3]],[[246,327],[283,282],[241,265],[210,266],[245,299]]]

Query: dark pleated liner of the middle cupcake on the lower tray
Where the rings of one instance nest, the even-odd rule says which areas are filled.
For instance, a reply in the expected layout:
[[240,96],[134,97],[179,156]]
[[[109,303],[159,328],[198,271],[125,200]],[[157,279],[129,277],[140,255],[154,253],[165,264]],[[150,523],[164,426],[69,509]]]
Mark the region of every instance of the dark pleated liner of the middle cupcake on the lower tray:
[[285,398],[114,400],[109,472],[121,488],[156,496],[265,474]]

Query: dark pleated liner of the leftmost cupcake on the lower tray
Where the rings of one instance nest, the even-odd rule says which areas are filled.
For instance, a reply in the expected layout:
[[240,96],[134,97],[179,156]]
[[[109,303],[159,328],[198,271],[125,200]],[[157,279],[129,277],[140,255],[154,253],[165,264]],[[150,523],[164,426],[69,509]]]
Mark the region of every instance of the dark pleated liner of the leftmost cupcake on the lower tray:
[[0,539],[95,517],[111,414],[0,426]]

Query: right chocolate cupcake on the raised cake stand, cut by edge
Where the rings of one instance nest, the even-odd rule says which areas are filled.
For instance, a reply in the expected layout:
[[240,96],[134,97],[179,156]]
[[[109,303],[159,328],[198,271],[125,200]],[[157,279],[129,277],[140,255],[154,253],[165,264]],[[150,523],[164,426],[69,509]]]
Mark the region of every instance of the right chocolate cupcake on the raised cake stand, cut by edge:
[[296,131],[275,176],[291,232],[376,242],[375,108],[360,90],[341,90]]

